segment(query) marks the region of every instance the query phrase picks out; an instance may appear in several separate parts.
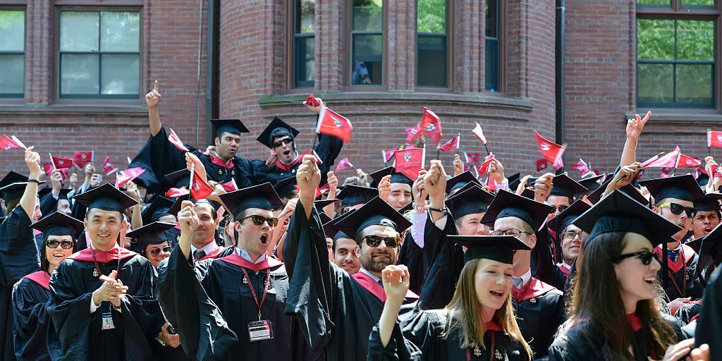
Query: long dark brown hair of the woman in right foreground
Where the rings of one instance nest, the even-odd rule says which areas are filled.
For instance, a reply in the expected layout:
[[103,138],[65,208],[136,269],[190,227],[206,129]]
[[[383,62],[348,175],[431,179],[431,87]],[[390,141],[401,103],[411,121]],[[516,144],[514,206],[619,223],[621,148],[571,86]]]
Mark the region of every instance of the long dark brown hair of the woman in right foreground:
[[[634,331],[627,320],[614,272],[614,260],[627,245],[626,235],[627,232],[608,232],[587,240],[568,310],[579,321],[575,327],[580,334],[590,342],[601,339],[606,360],[627,359],[633,339]],[[652,355],[664,355],[667,347],[675,343],[674,329],[661,318],[654,300],[638,301],[636,314],[645,325],[643,344],[649,345]]]

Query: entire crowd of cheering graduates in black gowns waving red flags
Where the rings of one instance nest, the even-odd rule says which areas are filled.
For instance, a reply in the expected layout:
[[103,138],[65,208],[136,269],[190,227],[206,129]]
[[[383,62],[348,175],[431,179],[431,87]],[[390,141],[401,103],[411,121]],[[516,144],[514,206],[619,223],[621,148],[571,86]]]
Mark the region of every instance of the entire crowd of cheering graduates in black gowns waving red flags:
[[[312,149],[274,118],[266,160],[238,155],[238,119],[196,149],[162,125],[157,82],[146,102],[114,184],[8,141],[27,170],[0,180],[0,360],[722,360],[722,174],[682,174],[679,149],[639,162],[651,113],[616,170],[578,180],[560,152],[522,176],[409,144],[341,182],[352,126],[313,95]],[[407,132],[438,144],[424,119]]]

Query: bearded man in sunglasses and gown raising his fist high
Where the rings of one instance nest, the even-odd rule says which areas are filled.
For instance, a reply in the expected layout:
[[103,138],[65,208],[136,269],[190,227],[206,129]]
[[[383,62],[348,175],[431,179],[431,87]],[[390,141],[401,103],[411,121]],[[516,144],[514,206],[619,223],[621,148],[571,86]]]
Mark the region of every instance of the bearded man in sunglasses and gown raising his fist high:
[[[368,336],[386,301],[380,274],[396,263],[399,231],[410,223],[378,197],[341,219],[337,226],[361,249],[361,268],[349,275],[326,256],[321,219],[313,207],[321,181],[313,157],[304,157],[296,178],[300,199],[283,250],[291,279],[287,314],[299,321],[310,347],[325,349],[328,360],[365,360]],[[402,315],[414,308],[416,298],[412,292],[406,295]]]

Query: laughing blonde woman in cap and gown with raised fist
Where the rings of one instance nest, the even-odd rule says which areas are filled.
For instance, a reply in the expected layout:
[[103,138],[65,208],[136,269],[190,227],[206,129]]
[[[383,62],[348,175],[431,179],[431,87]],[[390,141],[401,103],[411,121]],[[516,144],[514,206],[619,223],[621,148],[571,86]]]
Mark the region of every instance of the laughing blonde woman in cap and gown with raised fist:
[[371,332],[368,360],[531,360],[511,303],[513,254],[529,246],[510,236],[448,239],[468,248],[451,302],[397,321],[409,271],[387,266],[386,303]]

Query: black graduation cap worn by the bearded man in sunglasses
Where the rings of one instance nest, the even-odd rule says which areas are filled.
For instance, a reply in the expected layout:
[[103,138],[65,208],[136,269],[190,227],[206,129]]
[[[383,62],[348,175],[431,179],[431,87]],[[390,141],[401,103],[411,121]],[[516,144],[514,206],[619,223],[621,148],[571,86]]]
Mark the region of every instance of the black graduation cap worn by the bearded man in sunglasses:
[[361,232],[373,225],[385,225],[401,232],[411,227],[411,222],[377,196],[353,214],[339,220],[337,227],[347,235],[354,235],[353,239],[359,242]]

